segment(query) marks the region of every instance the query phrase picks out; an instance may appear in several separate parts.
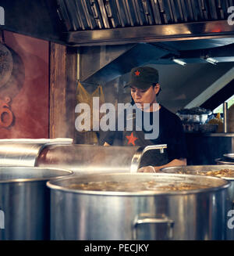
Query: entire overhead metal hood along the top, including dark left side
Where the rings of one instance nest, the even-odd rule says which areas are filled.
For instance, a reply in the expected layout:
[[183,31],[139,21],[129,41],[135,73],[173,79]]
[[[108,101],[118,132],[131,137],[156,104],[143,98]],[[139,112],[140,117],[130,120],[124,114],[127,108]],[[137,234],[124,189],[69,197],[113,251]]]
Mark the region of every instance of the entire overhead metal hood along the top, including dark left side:
[[62,44],[232,37],[234,0],[1,0],[2,29]]

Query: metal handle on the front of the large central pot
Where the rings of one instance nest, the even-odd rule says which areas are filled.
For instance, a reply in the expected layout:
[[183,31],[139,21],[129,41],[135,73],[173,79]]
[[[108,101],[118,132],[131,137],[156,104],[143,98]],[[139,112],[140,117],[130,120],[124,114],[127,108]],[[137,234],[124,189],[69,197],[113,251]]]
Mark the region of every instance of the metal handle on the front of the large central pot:
[[137,240],[137,226],[138,225],[144,225],[144,224],[163,224],[165,223],[168,225],[168,239],[172,239],[173,237],[173,227],[174,227],[174,221],[172,219],[169,219],[167,217],[163,218],[150,218],[150,217],[142,217],[142,216],[137,216],[135,218],[135,221],[133,223],[133,240]]

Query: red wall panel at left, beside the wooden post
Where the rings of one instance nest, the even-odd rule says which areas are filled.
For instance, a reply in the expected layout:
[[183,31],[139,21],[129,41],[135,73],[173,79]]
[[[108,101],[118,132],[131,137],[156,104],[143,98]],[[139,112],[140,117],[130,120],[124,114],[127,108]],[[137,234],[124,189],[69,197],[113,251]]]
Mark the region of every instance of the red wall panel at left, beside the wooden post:
[[49,42],[9,31],[4,41],[14,69],[0,87],[0,139],[48,138]]

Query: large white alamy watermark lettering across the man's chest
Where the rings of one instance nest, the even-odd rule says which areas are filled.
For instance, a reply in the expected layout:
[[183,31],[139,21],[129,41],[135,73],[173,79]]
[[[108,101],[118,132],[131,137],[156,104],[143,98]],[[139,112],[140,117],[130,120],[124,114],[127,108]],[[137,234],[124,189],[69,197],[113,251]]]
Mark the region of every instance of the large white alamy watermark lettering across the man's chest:
[[[151,115],[149,110],[151,107]],[[144,139],[157,139],[159,135],[159,104],[140,103],[131,105],[130,103],[117,104],[117,124],[115,117],[115,105],[104,103],[100,106],[99,97],[93,98],[92,110],[87,103],[76,105],[75,127],[78,132],[87,131],[133,131],[133,121],[136,124],[136,131],[144,131]],[[141,111],[143,110],[143,111]],[[124,112],[126,111],[126,115]],[[100,118],[101,117],[101,118]],[[151,120],[152,118],[152,120]],[[152,123],[152,124],[151,124]]]

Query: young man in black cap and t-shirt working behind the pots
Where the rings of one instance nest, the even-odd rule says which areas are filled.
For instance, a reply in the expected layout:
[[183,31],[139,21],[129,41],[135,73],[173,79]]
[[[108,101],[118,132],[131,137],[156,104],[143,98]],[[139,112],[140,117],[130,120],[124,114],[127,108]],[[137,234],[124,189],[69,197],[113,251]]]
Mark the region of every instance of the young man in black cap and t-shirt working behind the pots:
[[[154,172],[159,171],[160,168],[169,166],[186,165],[186,142],[183,125],[176,114],[165,109],[164,106],[159,105],[157,101],[158,93],[161,91],[160,85],[158,84],[158,70],[152,67],[134,67],[130,73],[129,84],[126,86],[131,88],[131,104],[137,109],[138,117],[140,116],[142,120],[148,117],[153,128],[149,131],[148,128],[144,128],[144,125],[137,126],[137,114],[129,115],[125,111],[124,131],[108,132],[105,138],[102,139],[104,146],[122,145],[145,147],[167,144],[165,153],[160,153],[159,150],[149,150],[144,153],[140,162],[140,169],[138,170],[140,172]],[[158,119],[156,118],[156,114],[159,114]],[[133,120],[133,129],[131,131],[126,129],[126,120]],[[142,124],[144,124],[144,121]],[[146,135],[152,134],[156,125],[159,128],[157,136],[146,139]]]

